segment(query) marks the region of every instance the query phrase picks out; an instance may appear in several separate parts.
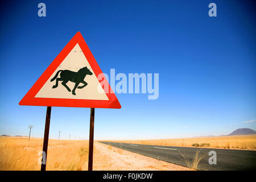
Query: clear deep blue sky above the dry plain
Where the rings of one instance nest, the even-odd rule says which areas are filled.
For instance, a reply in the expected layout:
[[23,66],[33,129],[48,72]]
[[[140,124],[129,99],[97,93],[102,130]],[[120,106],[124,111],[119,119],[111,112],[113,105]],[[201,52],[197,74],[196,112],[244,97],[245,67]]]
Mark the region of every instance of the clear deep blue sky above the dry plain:
[[[46,17],[38,3],[46,3]],[[217,5],[217,17],[208,5]],[[0,134],[43,137],[46,107],[18,103],[80,31],[103,72],[159,73],[159,98],[117,94],[95,139],[256,130],[255,13],[249,1],[13,1],[0,11]],[[1,2],[2,3],[2,2]],[[89,138],[89,108],[52,107],[50,138]],[[250,122],[246,122],[250,121]]]

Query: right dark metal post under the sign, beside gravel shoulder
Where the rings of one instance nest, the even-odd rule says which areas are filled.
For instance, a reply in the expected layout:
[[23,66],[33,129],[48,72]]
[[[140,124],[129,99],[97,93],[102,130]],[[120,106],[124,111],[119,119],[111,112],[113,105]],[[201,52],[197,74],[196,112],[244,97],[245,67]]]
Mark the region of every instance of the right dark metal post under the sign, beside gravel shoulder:
[[92,171],[92,167],[93,167],[93,133],[94,133],[94,108],[90,108],[90,137],[89,137],[88,171]]

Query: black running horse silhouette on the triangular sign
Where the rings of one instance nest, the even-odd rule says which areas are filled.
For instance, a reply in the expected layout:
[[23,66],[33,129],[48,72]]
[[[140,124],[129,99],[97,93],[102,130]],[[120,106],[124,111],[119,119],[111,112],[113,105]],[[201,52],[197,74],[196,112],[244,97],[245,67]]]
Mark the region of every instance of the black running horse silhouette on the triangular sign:
[[[57,78],[57,76],[59,75],[60,73],[60,78]],[[81,68],[79,69],[78,72],[72,72],[72,71],[69,71],[67,69],[65,70],[59,70],[57,71],[56,75],[51,79],[51,81],[55,80],[56,78],[56,84],[52,86],[53,89],[57,88],[58,86],[58,82],[59,81],[63,81],[61,82],[61,84],[63,86],[65,86],[65,88],[68,90],[68,92],[71,92],[71,89],[69,89],[67,82],[68,81],[72,81],[72,82],[75,82],[75,86],[72,90],[72,94],[76,96],[76,88],[78,89],[82,89],[84,88],[86,85],[88,85],[85,81],[84,81],[84,78],[86,75],[92,75],[93,73],[90,72],[90,70],[87,68],[87,67],[84,67],[84,68]],[[78,86],[80,83],[84,84],[82,86]]]

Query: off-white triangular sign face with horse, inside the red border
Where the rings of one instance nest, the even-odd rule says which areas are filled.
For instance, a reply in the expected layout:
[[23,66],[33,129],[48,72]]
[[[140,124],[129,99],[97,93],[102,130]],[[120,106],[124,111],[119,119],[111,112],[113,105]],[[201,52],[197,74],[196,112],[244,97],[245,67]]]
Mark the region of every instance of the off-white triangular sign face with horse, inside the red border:
[[76,44],[35,97],[109,100],[99,84],[79,44]]

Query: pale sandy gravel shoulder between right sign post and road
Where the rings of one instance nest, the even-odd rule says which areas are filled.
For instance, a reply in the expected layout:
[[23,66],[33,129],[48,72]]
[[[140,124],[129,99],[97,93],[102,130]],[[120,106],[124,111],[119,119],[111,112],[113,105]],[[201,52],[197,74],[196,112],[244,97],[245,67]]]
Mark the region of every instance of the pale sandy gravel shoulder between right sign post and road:
[[96,171],[189,171],[176,164],[135,154],[103,143],[94,143],[93,170]]

